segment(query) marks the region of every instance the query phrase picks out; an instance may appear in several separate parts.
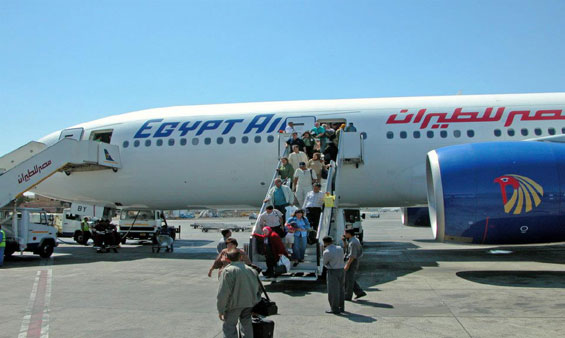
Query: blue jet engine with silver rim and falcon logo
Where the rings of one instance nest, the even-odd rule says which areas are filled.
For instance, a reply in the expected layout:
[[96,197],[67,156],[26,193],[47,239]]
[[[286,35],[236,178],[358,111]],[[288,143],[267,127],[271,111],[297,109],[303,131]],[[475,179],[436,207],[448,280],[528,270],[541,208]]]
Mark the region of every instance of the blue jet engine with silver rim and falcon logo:
[[439,241],[565,241],[565,144],[489,142],[430,151],[428,206]]

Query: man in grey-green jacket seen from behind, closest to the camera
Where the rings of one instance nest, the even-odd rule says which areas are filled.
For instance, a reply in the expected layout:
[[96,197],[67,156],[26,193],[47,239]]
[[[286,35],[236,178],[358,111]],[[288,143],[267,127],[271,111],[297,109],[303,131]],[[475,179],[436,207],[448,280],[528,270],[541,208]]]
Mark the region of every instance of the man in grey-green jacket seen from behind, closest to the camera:
[[240,261],[239,250],[229,250],[227,258],[231,263],[220,274],[217,295],[218,314],[224,322],[224,337],[238,338],[238,321],[241,337],[253,337],[251,310],[261,299],[259,279],[252,267]]

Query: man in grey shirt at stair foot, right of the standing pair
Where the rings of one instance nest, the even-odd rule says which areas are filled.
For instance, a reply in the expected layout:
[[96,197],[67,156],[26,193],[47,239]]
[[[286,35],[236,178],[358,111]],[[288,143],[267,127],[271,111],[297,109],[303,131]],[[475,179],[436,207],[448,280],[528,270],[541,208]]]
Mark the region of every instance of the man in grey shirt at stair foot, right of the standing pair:
[[344,236],[344,245],[347,245],[347,253],[345,255],[345,300],[351,300],[353,293],[355,299],[359,299],[367,295],[363,289],[357,284],[357,270],[359,270],[359,260],[363,257],[363,247],[355,237],[355,229],[346,229]]

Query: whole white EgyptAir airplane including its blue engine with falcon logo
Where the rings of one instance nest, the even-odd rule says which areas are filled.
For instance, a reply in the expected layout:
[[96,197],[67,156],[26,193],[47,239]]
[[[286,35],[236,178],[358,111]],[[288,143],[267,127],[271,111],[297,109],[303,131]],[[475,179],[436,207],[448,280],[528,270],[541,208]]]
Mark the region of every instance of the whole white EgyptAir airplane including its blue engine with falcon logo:
[[59,172],[33,191],[118,207],[257,206],[289,122],[299,131],[352,123],[357,131],[342,132],[339,145],[340,206],[427,206],[439,241],[563,241],[564,108],[565,93],[540,93],[148,109],[41,138],[115,145],[121,167]]

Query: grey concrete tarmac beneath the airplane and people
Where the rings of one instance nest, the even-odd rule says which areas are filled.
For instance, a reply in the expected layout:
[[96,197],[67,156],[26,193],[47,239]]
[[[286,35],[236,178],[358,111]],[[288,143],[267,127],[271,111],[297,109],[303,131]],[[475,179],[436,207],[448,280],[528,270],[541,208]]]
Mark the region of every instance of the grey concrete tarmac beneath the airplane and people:
[[[128,241],[97,254],[63,239],[50,259],[15,254],[0,269],[0,337],[221,337],[217,275],[207,276],[221,236],[192,222],[169,221],[182,225],[173,253]],[[563,244],[437,243],[396,212],[364,227],[368,295],[333,315],[322,282],[266,283],[275,337],[564,336]],[[234,237],[241,247],[249,232]]]

